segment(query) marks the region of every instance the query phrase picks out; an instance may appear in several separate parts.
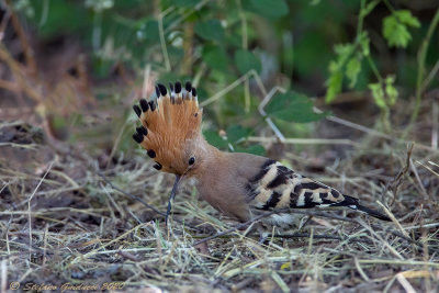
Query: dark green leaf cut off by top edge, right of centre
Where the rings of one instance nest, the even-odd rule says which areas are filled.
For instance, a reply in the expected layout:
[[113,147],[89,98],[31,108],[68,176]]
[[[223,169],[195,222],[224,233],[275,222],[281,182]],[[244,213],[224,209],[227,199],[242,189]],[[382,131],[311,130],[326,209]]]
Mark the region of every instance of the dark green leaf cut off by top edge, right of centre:
[[289,13],[285,0],[245,0],[243,7],[266,18],[280,18]]

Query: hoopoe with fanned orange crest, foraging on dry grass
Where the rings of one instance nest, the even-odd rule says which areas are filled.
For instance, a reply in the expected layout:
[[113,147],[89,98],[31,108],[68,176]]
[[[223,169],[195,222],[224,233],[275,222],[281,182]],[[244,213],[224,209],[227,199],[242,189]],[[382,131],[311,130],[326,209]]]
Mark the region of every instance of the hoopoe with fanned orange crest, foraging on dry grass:
[[[225,153],[211,146],[201,133],[202,109],[191,82],[156,87],[157,102],[145,99],[133,109],[142,122],[135,142],[155,160],[154,168],[181,178],[192,178],[200,196],[217,211],[247,222],[263,211],[312,207],[347,207],[382,221],[387,216],[359,203],[358,199],[282,166],[244,153]],[[173,198],[173,195],[171,195]],[[168,205],[168,214],[170,211]],[[285,227],[294,221],[293,210],[272,214],[264,225]]]

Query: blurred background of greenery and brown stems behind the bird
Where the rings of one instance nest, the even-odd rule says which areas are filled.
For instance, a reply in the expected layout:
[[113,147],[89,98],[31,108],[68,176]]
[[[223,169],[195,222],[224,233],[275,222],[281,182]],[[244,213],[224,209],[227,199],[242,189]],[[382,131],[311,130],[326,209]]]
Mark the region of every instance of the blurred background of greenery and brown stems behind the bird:
[[[423,103],[421,116],[437,119],[434,0],[3,0],[1,8],[0,117],[40,127],[55,145],[114,153],[116,142],[131,151],[131,105],[153,97],[155,82],[177,79],[194,82],[207,139],[230,150],[266,154],[246,138],[272,135],[267,117],[284,137],[350,138],[350,129],[309,123],[338,115],[403,138],[421,128],[417,138],[427,140],[432,123],[416,128]],[[281,92],[259,112],[274,86]]]

